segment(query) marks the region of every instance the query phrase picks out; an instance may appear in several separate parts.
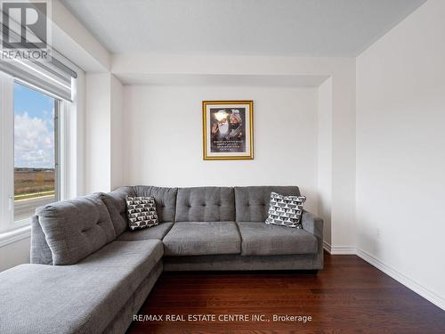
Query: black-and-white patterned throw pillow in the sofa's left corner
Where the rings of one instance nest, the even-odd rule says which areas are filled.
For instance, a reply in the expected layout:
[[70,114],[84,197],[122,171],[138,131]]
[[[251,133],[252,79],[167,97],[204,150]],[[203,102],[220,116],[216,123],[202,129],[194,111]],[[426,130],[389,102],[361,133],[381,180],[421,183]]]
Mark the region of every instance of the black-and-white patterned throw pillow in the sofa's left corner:
[[126,197],[126,215],[130,230],[140,230],[158,224],[154,197]]

